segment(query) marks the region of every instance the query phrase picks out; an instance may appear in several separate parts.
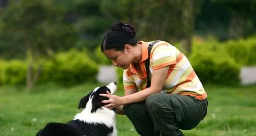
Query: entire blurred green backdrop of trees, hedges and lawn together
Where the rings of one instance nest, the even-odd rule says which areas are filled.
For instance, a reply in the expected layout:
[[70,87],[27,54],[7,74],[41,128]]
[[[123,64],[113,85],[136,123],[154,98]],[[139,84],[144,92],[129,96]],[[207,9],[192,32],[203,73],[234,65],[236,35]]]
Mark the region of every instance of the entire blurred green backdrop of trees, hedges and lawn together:
[[[0,0],[0,135],[67,122],[80,98],[118,81],[100,51],[121,20],[138,40],[165,40],[190,60],[210,105],[186,135],[256,135],[255,0]],[[119,135],[137,135],[117,116]]]

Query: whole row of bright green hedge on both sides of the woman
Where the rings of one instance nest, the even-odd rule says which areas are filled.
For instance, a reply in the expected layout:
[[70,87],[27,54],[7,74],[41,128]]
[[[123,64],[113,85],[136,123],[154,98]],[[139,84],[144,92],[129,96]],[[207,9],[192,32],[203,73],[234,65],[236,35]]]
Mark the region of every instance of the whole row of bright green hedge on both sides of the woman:
[[[256,65],[256,37],[227,42],[214,39],[193,40],[188,57],[203,83],[238,84],[241,66]],[[96,81],[98,65],[110,65],[98,47],[92,60],[87,51],[75,49],[57,53],[53,59],[42,60],[40,83],[55,82],[64,85]],[[0,84],[25,84],[26,60],[0,60]],[[38,65],[37,65],[38,66]],[[37,69],[37,68],[35,68]],[[118,82],[122,84],[122,69],[117,68]]]

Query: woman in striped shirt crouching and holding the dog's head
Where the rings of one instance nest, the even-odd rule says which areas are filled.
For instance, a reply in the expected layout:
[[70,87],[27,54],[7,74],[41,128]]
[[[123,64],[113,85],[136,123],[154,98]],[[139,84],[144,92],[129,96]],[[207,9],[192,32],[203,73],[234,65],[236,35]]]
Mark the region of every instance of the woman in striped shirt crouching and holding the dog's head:
[[[138,134],[183,135],[196,127],[207,111],[206,92],[187,57],[171,44],[137,41],[129,24],[115,22],[104,34],[101,51],[114,67],[124,69],[124,96],[100,94],[107,108],[117,108],[133,123]],[[145,61],[149,57],[149,78]]]

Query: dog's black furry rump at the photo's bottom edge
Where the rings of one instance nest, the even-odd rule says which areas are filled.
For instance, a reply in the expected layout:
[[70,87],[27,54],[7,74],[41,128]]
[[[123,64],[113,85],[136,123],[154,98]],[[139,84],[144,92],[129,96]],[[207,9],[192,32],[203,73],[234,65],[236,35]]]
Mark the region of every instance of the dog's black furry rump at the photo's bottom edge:
[[67,126],[64,123],[57,123],[57,122],[48,123],[42,130],[40,130],[37,133],[37,136],[56,136],[56,135],[78,136],[79,133],[75,131],[75,128]]

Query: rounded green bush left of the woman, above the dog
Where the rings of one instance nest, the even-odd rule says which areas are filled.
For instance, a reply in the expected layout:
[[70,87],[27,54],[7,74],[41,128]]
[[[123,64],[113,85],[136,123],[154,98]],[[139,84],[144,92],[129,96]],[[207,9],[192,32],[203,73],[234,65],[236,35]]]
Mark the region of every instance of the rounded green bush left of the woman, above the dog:
[[42,72],[43,80],[73,85],[88,81],[96,81],[98,66],[88,57],[88,53],[75,49],[58,53],[54,59],[45,63]]

